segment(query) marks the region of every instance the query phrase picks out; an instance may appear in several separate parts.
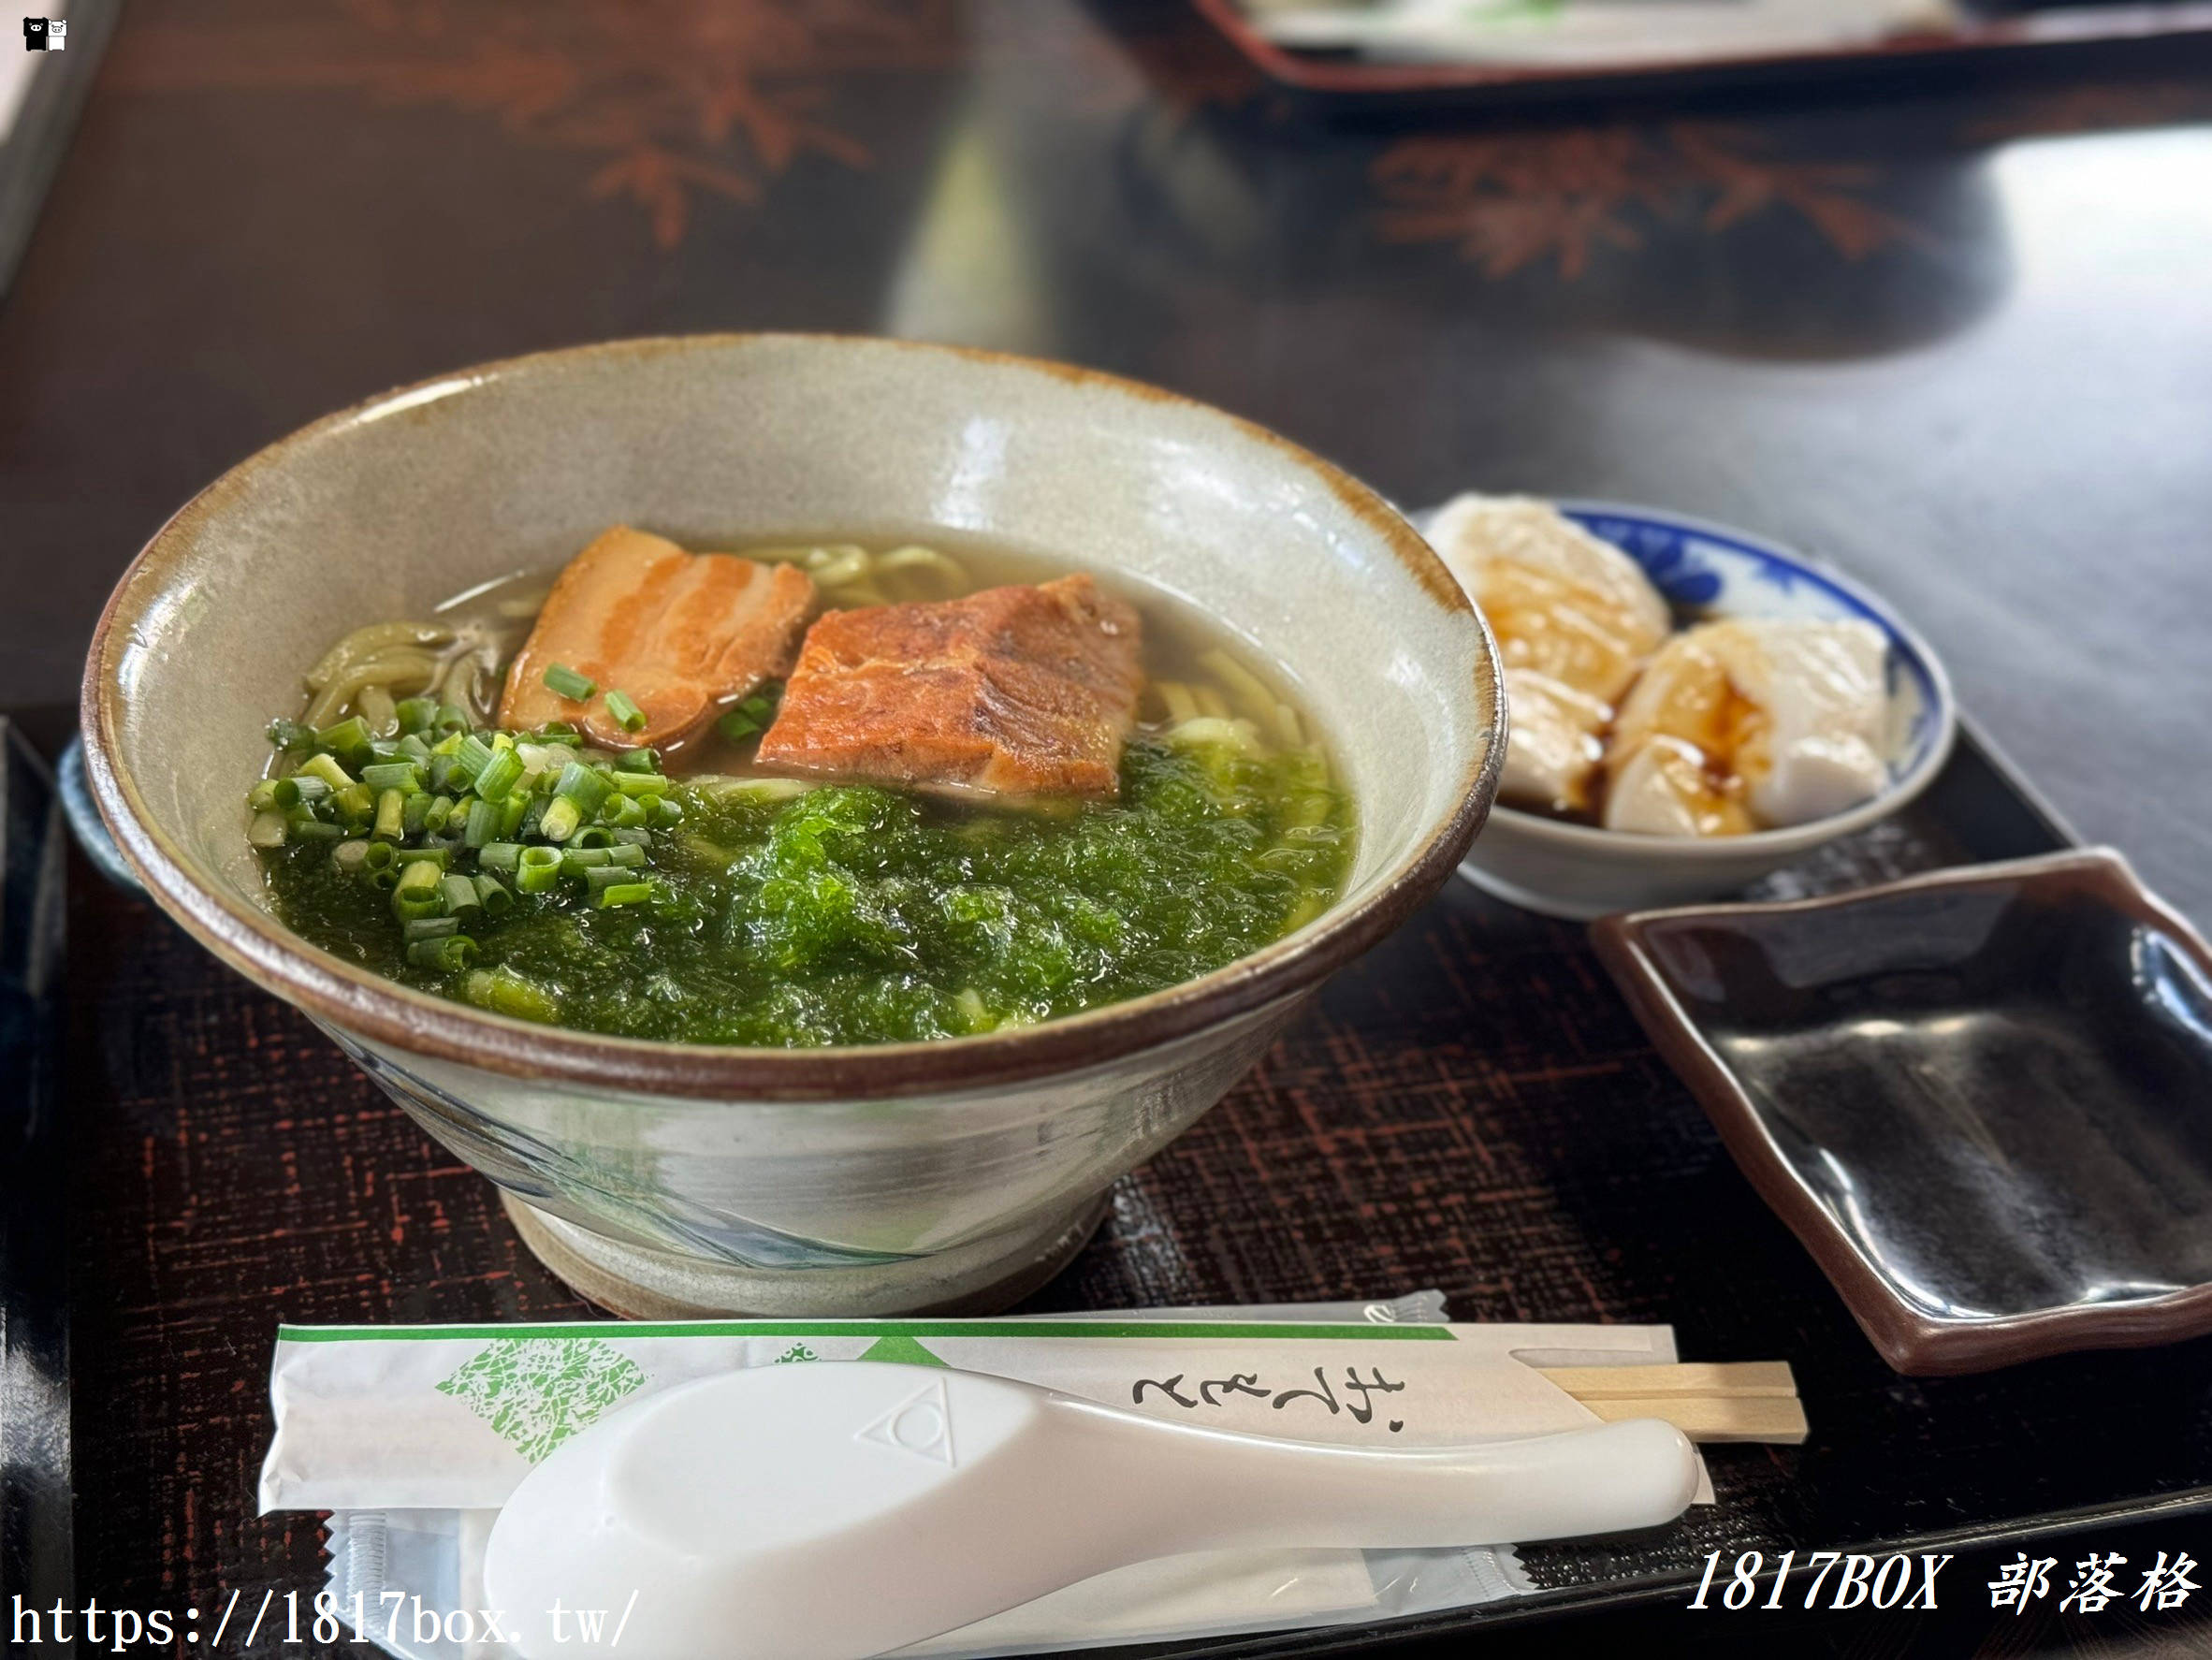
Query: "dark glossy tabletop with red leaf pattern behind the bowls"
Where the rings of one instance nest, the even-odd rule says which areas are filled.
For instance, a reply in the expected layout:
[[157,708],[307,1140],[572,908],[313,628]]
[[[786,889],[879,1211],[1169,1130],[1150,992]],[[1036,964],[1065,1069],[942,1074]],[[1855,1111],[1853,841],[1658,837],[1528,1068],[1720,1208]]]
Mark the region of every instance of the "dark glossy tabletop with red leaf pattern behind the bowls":
[[2212,80],[2174,51],[1329,124],[1179,0],[150,0],[0,319],[42,571],[0,702],[66,697],[161,516],[369,390],[885,330],[1161,381],[1411,505],[1610,496],[1825,553],[2205,914],[2208,175]]

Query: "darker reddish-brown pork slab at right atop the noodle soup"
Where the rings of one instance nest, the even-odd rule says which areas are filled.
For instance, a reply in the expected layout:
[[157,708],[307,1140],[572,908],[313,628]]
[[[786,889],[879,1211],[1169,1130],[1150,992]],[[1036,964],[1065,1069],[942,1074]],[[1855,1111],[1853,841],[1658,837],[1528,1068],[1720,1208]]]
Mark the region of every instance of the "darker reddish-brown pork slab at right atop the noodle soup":
[[1144,691],[1135,609],[1088,575],[816,620],[761,764],[1002,795],[1113,795]]

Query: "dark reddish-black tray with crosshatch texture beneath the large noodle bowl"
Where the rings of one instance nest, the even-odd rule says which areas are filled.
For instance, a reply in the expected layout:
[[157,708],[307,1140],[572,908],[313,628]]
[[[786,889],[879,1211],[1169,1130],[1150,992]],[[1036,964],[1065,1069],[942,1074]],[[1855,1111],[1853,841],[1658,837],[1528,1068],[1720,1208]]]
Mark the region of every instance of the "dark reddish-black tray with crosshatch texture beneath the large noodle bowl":
[[[1969,728],[1918,803],[1761,892],[2070,841]],[[312,1594],[314,1518],[252,1514],[276,1321],[593,1310],[522,1251],[489,1184],[312,1025],[88,865],[75,876],[80,1594]],[[1681,1605],[1708,1552],[2011,1549],[2084,1521],[2212,1507],[2212,1421],[2199,1412],[2212,1339],[1898,1377],[1652,1051],[1584,927],[1460,881],[1338,976],[1190,1135],[1124,1177],[1093,1244],[1024,1308],[1420,1286],[1440,1286],[1455,1319],[1670,1321],[1688,1359],[1787,1359],[1812,1439],[1712,1450],[1721,1503],[1672,1532],[1524,1549],[1531,1598],[1126,1653],[1332,1653]],[[164,1540],[155,1560],[150,1538]]]

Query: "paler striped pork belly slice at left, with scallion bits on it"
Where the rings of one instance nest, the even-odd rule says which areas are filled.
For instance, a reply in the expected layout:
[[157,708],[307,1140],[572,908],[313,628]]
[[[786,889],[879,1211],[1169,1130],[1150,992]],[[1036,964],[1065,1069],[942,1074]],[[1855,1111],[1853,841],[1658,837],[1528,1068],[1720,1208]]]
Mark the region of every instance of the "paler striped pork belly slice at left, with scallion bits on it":
[[[507,671],[500,724],[566,719],[595,744],[677,744],[717,708],[790,668],[814,609],[814,578],[794,564],[734,553],[686,553],[661,536],[617,525],[568,560],[522,653]],[[544,684],[566,664],[599,684],[575,704]],[[626,733],[606,693],[628,693],[646,715]]]

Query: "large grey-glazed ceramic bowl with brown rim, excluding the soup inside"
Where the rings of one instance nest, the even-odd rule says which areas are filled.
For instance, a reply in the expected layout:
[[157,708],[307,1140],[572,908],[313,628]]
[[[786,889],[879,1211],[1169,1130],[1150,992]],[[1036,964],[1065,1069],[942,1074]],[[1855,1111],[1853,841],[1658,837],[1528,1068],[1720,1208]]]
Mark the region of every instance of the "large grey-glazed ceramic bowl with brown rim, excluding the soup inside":
[[[951,527],[1203,606],[1296,682],[1358,810],[1345,896],[1130,1003],[927,1045],[714,1049],[522,1025],[294,938],[248,852],[263,724],[347,629],[633,522],[690,547]],[[153,896],[296,1003],[524,1237],[622,1313],[980,1308],[1442,885],[1489,810],[1495,649],[1363,485],[1166,392],[949,347],[628,341],[372,398],[246,460],[146,547],[84,679],[93,795]]]

